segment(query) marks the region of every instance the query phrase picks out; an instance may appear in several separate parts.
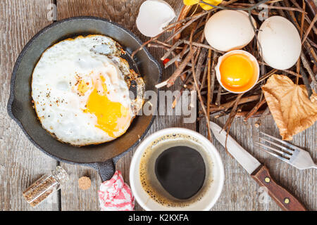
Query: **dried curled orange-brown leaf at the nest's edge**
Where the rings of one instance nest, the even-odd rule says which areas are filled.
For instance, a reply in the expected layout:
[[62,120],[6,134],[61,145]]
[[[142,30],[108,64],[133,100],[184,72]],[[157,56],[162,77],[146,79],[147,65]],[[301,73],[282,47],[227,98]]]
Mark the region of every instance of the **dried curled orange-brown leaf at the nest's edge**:
[[262,87],[268,108],[283,140],[304,131],[317,120],[317,103],[310,101],[304,85],[284,75],[272,75]]

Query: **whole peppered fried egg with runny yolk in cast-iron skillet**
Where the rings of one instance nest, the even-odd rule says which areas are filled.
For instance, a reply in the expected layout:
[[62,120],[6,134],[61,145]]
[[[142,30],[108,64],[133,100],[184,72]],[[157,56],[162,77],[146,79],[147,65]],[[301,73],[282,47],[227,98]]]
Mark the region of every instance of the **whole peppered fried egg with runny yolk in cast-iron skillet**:
[[74,146],[124,134],[137,113],[128,78],[142,78],[121,53],[120,45],[103,35],[66,39],[46,49],[32,75],[32,98],[42,127]]

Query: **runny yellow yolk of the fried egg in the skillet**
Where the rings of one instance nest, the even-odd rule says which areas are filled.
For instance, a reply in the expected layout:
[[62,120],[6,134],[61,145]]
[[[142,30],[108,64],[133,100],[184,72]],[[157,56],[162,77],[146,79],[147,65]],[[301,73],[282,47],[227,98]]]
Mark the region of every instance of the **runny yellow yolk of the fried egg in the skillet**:
[[[92,113],[97,117],[96,127],[105,131],[111,137],[119,136],[130,124],[130,112],[121,103],[112,102],[106,96],[107,87],[104,77],[101,78],[103,91],[97,86],[89,95],[84,113]],[[120,132],[118,134],[118,132]]]

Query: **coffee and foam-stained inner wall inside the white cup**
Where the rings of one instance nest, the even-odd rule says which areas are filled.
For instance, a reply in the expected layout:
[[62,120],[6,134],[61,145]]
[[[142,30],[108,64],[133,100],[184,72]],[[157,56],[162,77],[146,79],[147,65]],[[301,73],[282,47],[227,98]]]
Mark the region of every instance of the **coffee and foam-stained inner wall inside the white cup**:
[[185,134],[166,134],[147,146],[139,181],[149,197],[166,207],[188,207],[201,200],[213,181],[213,163],[204,146]]

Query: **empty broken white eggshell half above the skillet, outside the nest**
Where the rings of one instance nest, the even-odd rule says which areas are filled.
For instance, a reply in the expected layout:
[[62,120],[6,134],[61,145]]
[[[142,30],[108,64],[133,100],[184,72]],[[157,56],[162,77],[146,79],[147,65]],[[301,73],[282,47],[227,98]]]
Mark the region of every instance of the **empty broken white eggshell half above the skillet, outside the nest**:
[[137,29],[144,36],[155,37],[175,18],[175,11],[162,0],[147,0],[139,8]]

